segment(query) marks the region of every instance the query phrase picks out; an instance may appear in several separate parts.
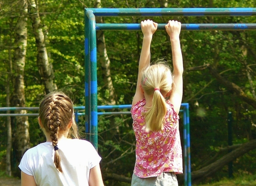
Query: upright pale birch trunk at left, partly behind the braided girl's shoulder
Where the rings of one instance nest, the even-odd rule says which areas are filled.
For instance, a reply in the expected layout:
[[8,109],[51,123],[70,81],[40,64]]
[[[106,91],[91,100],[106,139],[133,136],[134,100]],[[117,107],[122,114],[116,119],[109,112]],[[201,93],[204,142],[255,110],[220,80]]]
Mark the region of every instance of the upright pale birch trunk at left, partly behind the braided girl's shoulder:
[[[24,87],[24,68],[25,68],[25,57],[27,52],[27,0],[20,1],[20,7],[22,11],[15,28],[15,52],[14,52],[14,91],[12,95],[12,106],[13,107],[25,107],[25,87]],[[18,114],[27,113],[27,111],[15,111]],[[13,141],[14,156],[14,171],[15,175],[20,175],[18,169],[18,163],[29,148],[29,123],[27,116],[15,117],[15,132]]]

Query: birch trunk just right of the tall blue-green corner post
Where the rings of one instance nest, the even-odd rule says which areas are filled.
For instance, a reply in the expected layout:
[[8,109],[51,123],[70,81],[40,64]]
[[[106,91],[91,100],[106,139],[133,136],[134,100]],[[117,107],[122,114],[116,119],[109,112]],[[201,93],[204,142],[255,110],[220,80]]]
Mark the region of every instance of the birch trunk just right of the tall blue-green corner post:
[[[95,7],[100,8],[101,7],[101,1],[96,0],[95,1]],[[96,17],[97,23],[102,23],[102,17],[97,16]],[[107,99],[102,100],[103,102],[106,102],[105,104],[110,105],[116,105],[116,96],[115,96],[115,89],[113,87],[113,82],[111,79],[111,71],[110,71],[110,60],[108,58],[107,49],[106,49],[106,43],[105,43],[105,36],[104,32],[102,30],[97,31],[97,48],[99,52],[99,62],[101,64],[102,69],[102,79],[104,82],[104,90],[107,92]]]

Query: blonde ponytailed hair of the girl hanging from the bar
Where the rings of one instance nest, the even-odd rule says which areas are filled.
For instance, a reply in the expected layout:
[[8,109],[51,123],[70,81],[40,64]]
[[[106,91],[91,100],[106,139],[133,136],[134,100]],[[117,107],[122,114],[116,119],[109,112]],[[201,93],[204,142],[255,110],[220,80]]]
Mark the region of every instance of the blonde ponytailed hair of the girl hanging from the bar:
[[142,72],[141,87],[145,94],[153,95],[152,105],[145,114],[146,131],[163,129],[164,117],[167,112],[163,95],[172,89],[172,73],[164,62],[149,65]]

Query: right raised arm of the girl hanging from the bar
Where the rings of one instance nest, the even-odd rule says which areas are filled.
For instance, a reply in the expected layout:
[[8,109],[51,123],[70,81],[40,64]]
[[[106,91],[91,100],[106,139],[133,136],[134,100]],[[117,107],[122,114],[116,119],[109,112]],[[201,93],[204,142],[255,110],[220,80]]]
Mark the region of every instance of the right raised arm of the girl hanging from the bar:
[[179,38],[181,23],[178,21],[169,21],[166,24],[165,29],[170,36],[173,60],[173,85],[170,102],[174,106],[174,111],[179,113],[183,94],[183,60]]

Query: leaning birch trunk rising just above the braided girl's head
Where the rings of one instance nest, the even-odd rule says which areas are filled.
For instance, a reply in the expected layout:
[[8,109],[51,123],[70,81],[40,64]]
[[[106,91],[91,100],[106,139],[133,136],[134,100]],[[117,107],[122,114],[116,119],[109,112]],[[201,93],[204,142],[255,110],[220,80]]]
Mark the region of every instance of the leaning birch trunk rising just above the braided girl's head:
[[41,19],[35,0],[29,0],[29,10],[36,38],[38,70],[45,87],[45,92],[48,94],[51,91],[57,90],[57,85],[54,83],[53,66],[49,63],[45,46],[45,36],[42,30]]

